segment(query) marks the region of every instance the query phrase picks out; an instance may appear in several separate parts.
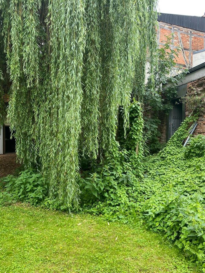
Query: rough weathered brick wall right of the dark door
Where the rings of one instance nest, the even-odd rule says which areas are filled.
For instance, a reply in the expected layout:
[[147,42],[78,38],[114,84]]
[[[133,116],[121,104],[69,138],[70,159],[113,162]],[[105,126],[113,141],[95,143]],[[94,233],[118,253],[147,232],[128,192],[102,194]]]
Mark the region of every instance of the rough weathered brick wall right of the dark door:
[[[200,96],[205,93],[205,77],[187,84],[187,94],[194,95],[196,92],[197,96]],[[185,105],[185,116],[190,115],[190,110],[188,105]],[[202,134],[205,135],[205,114],[201,113],[198,118],[198,125],[194,131],[194,135]]]

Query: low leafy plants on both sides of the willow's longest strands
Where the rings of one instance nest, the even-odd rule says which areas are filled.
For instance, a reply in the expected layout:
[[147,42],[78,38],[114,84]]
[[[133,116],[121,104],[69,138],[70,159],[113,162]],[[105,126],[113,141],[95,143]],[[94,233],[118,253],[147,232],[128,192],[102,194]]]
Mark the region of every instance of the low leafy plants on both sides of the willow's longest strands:
[[[141,171],[139,171],[138,156],[134,157],[134,154],[126,149],[118,150],[116,158],[108,159],[103,165],[101,162],[87,171],[82,171],[79,181],[81,189],[79,210],[103,215],[109,222],[120,220],[124,223],[136,224],[143,221],[148,228],[162,232],[179,248],[184,249],[189,259],[195,261],[198,268],[203,268],[205,265],[204,137],[192,137],[185,148],[182,145],[183,139],[188,136],[190,122],[196,119],[197,115],[186,118],[161,152],[142,160]],[[90,167],[90,163],[87,164]],[[20,199],[15,182],[13,183],[15,179],[6,177],[2,180],[4,187],[1,193],[4,198],[1,201],[2,205],[13,202],[13,192],[16,193],[15,202],[18,198],[30,202],[28,195]],[[35,196],[36,186],[30,187],[25,182],[28,181],[27,179],[35,182],[32,173],[22,172],[16,180],[17,185],[21,188],[21,185],[24,187],[26,184],[26,187],[31,189],[31,193],[28,191],[28,194],[33,194],[36,198],[33,202],[35,205],[66,209],[58,200],[50,199],[46,193],[41,196],[37,191]],[[44,184],[41,185],[41,191],[44,190]]]

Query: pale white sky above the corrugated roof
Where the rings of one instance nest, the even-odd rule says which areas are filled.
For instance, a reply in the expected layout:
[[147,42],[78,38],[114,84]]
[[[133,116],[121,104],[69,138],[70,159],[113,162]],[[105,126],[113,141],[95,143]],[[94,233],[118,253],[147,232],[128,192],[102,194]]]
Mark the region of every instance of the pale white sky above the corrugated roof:
[[181,15],[202,16],[205,0],[159,0],[158,11]]

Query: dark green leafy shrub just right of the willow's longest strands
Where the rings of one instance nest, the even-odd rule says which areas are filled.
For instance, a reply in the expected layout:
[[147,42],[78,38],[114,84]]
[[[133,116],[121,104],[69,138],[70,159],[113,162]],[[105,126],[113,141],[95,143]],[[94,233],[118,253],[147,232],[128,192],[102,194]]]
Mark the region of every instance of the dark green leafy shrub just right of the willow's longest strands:
[[128,218],[136,218],[134,208],[142,175],[138,164],[136,153],[121,150],[93,166],[91,171],[82,172],[81,210],[103,214],[109,221],[128,222]]

